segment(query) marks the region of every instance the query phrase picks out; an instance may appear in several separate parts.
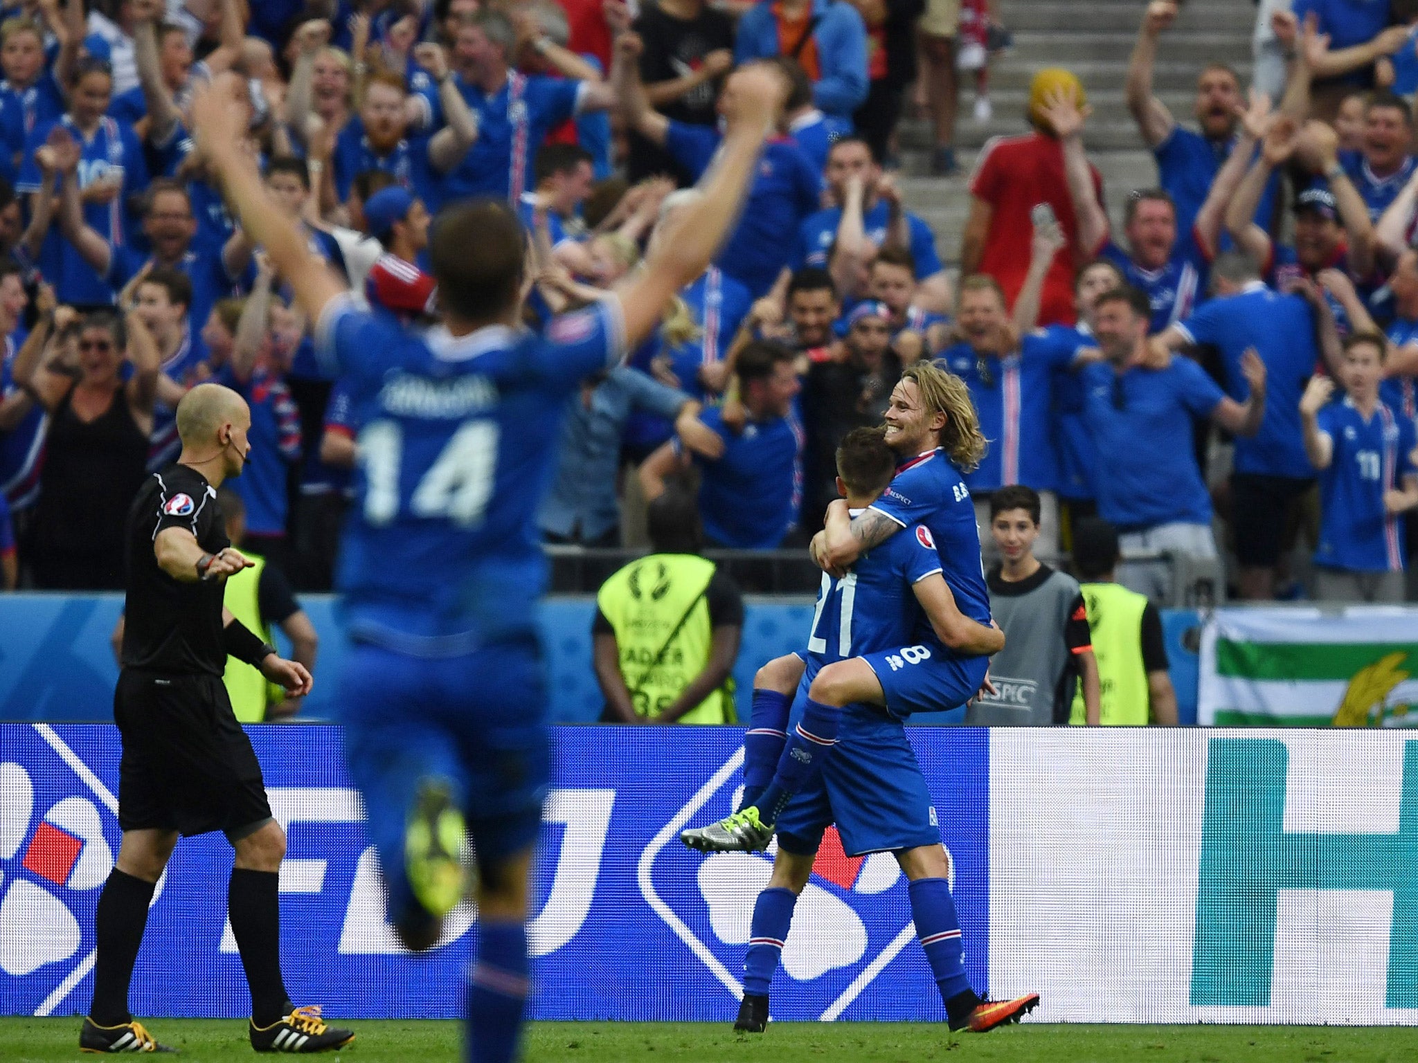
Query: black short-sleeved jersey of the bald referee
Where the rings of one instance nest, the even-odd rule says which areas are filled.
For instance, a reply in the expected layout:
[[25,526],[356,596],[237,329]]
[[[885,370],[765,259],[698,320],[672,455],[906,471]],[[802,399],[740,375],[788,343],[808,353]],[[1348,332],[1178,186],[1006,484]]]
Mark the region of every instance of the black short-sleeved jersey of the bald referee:
[[231,546],[217,492],[200,472],[169,465],[143,482],[128,512],[123,668],[220,676],[227,666],[225,581],[179,583],[159,568],[153,543],[169,527],[191,532],[208,554]]

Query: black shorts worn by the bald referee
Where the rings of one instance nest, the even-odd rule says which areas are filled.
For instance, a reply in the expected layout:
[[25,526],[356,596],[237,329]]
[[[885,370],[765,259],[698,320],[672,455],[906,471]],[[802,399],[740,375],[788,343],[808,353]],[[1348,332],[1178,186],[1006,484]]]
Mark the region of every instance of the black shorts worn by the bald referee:
[[235,842],[271,819],[261,765],[218,676],[125,668],[113,719],[123,831],[221,831]]

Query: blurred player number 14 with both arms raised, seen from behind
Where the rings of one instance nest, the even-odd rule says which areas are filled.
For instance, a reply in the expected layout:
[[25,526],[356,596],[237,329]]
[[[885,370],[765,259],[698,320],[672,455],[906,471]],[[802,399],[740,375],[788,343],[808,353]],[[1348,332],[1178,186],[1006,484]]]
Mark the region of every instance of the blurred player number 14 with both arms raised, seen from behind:
[[549,774],[535,514],[557,422],[581,378],[648,336],[708,266],[757,169],[781,79],[760,64],[730,78],[727,133],[702,198],[647,269],[546,337],[516,330],[525,234],[493,200],[461,203],[434,224],[441,327],[420,334],[357,312],[237,152],[240,130],[224,113],[234,89],[220,79],[194,103],[203,150],[242,228],[318,322],[322,356],[339,363],[362,424],[337,578],[354,643],[340,702],[390,918],[408,945],[437,941],[465,892],[467,825],[481,872],[468,1057],[505,1063],[526,1005],[529,869]]

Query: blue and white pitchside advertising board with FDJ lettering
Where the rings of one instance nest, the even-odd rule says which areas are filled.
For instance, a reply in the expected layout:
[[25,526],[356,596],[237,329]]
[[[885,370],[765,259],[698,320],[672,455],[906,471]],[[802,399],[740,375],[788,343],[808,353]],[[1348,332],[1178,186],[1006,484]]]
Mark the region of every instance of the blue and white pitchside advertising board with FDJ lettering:
[[[454,1016],[475,931],[400,951],[337,729],[258,726],[285,823],[298,1002]],[[537,859],[532,1015],[732,1020],[757,855],[675,835],[730,809],[740,730],[559,727]],[[1418,741],[1392,730],[915,729],[981,992],[1062,1022],[1418,1022]],[[326,748],[323,760],[312,748]],[[108,724],[0,724],[0,1012],[86,1008],[119,842]],[[614,816],[614,831],[610,829]],[[177,848],[133,979],[142,1016],[247,1015],[221,911],[231,850]],[[778,1019],[943,1019],[889,855],[828,833],[774,984]]]

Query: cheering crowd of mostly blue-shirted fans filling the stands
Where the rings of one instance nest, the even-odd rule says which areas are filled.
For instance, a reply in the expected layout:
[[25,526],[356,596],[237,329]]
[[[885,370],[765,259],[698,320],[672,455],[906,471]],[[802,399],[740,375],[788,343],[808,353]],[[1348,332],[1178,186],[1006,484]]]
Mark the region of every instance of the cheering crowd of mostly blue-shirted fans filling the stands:
[[[330,584],[360,425],[193,150],[194,88],[247,79],[272,196],[381,312],[435,315],[441,204],[516,203],[540,329],[638,268],[715,163],[726,72],[767,62],[781,135],[718,264],[547,441],[547,543],[635,543],[682,480],[708,546],[800,544],[838,442],[937,359],[990,439],[967,479],[981,527],[1022,485],[1041,556],[1096,513],[1146,592],[1170,568],[1129,558],[1232,553],[1246,598],[1401,600],[1418,3],[1289,9],[1261,4],[1249,95],[1198,71],[1195,129],[1151,84],[1177,4],[1140,9],[1123,88],[1159,179],[1122,232],[1085,86],[1038,71],[1028,125],[976,163],[951,282],[903,204],[896,126],[925,106],[932,170],[954,170],[961,72],[987,120],[1008,40],[984,0],[20,0],[0,14],[4,581],[121,587],[128,500],[176,455],[183,391],[217,380],[252,408],[248,549]],[[1323,580],[1292,564],[1303,543]]]

